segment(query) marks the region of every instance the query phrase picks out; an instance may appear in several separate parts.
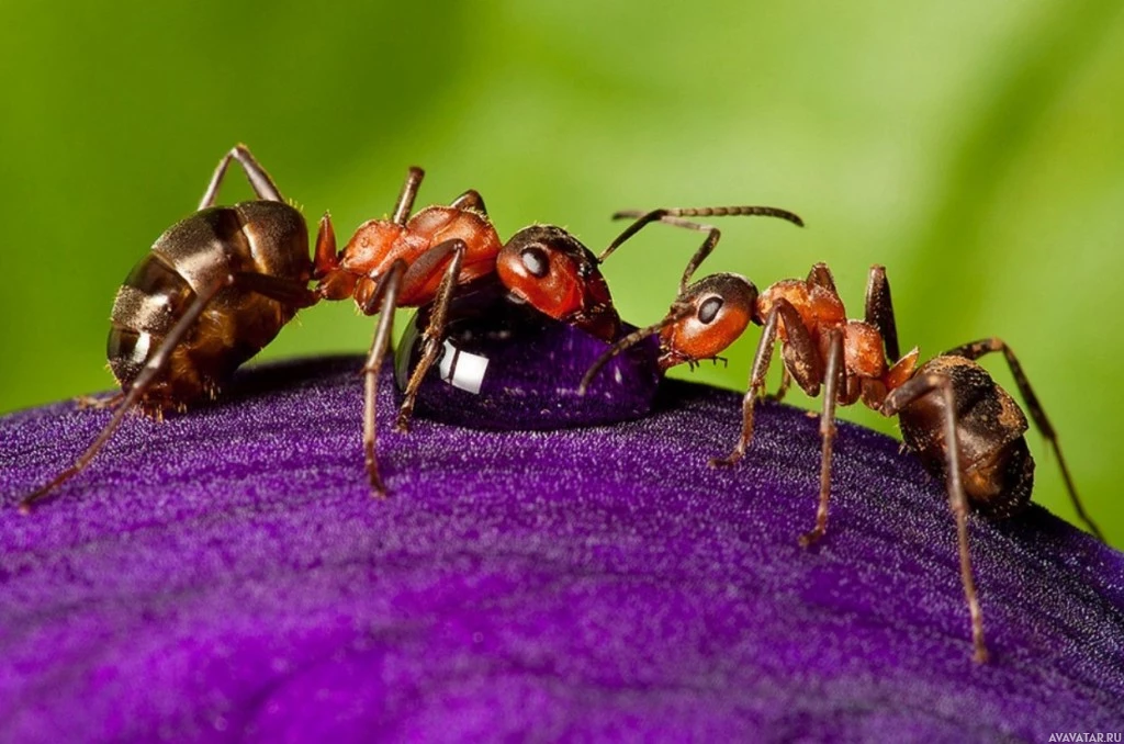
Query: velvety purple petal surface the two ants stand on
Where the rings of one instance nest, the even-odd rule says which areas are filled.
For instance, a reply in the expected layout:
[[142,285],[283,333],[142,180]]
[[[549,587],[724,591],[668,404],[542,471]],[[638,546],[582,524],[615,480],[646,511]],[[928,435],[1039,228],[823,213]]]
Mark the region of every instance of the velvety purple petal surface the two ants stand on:
[[[0,420],[0,741],[505,736],[1048,741],[1124,722],[1124,556],[1040,508],[972,521],[992,662],[970,661],[941,487],[842,426],[669,383],[641,420],[387,434],[366,496],[360,361],[244,373],[126,421]],[[382,420],[389,430],[390,380]],[[754,735],[751,735],[755,733]]]

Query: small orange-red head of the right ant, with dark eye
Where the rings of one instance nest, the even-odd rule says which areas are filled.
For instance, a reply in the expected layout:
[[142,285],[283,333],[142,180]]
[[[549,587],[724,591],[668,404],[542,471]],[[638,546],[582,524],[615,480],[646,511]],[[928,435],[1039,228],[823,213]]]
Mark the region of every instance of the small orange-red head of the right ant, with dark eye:
[[738,274],[711,274],[679,296],[660,328],[660,366],[717,356],[750,321],[760,325],[758,288]]

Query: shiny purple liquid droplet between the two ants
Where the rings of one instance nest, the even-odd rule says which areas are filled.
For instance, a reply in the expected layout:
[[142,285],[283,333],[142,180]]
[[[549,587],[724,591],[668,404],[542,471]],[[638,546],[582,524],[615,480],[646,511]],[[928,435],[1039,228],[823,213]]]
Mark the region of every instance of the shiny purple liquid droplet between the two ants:
[[[414,316],[399,344],[399,391],[422,354],[430,309]],[[415,414],[501,430],[550,430],[640,418],[651,409],[662,376],[655,337],[614,357],[587,393],[578,393],[582,375],[609,346],[574,325],[543,315],[486,278],[453,298],[441,356],[418,390]]]

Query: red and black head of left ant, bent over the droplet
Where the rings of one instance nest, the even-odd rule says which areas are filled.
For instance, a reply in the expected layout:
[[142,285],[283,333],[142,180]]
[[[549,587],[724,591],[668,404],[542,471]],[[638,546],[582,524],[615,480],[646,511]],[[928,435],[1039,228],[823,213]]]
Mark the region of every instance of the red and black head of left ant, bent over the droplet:
[[616,341],[620,318],[597,258],[562,228],[519,230],[500,249],[496,272],[511,294],[540,312]]

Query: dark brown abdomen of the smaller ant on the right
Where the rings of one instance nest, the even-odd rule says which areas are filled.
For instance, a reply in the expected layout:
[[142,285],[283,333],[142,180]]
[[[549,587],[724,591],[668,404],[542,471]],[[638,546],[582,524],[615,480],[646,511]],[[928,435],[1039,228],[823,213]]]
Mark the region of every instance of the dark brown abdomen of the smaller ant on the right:
[[[937,356],[917,371],[936,373],[952,383],[960,442],[961,479],[972,509],[1001,519],[1031,500],[1034,459],[1026,446],[1026,416],[987,370],[962,356]],[[939,390],[922,396],[899,414],[901,437],[925,469],[945,479],[944,399]]]

